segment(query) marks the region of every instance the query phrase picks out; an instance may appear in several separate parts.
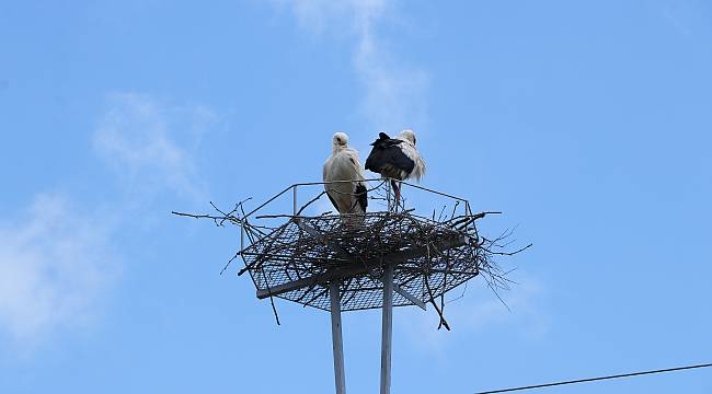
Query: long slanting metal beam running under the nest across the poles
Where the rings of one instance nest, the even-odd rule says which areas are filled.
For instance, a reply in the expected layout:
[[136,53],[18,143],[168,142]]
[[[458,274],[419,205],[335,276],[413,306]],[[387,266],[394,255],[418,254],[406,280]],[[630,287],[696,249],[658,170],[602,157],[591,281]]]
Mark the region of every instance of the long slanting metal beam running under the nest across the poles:
[[[434,246],[439,251],[446,251],[452,247],[459,247],[466,244],[464,236],[456,236],[449,240],[440,241]],[[391,253],[383,256],[386,264],[399,264],[409,259],[417,258],[427,254],[425,246],[411,247],[405,251]],[[361,275],[368,273],[370,269],[378,267],[381,264],[381,258],[376,257],[366,260],[364,264],[351,264],[343,267],[336,267],[328,270],[324,274],[310,276],[308,278],[292,280],[290,282],[277,285],[271,289],[259,289],[257,298],[265,299],[269,296],[279,296],[286,292],[301,289],[308,286],[324,285],[332,280],[343,279],[349,276]]]

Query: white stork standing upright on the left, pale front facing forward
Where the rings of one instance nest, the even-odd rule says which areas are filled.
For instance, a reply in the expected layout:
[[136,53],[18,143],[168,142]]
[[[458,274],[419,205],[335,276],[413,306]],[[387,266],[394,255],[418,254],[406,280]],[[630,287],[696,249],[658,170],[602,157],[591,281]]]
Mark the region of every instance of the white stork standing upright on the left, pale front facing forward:
[[332,142],[332,155],[326,159],[323,171],[326,196],[338,213],[363,216],[368,198],[358,152],[348,147],[348,136],[344,132],[336,132]]

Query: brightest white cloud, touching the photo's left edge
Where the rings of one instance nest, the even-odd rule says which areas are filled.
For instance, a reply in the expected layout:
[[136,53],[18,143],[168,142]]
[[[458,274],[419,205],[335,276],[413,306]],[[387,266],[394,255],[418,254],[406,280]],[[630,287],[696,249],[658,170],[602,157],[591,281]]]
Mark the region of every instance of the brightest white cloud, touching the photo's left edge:
[[56,195],[0,222],[0,332],[33,346],[91,321],[118,275],[111,228],[105,216],[89,217]]

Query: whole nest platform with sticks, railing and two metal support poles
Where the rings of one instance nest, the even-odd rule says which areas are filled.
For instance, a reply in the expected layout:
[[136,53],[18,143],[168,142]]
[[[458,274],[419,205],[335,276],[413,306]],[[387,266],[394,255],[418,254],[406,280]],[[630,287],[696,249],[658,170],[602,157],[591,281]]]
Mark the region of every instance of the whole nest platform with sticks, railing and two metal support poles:
[[[218,215],[173,212],[240,228],[240,250],[222,271],[242,257],[238,275],[249,273],[257,298],[269,298],[277,324],[274,298],[331,312],[337,394],[346,391],[342,311],[382,309],[380,392],[388,394],[393,306],[425,309],[429,302],[440,317],[438,328],[450,329],[443,316],[445,293],[475,276],[495,294],[507,289],[506,273],[494,257],[530,246],[507,252],[512,231],[493,239],[480,235],[478,220],[498,212],[473,213],[466,199],[409,183],[401,183],[409,199],[395,201],[390,181],[366,181],[369,212],[360,216],[320,212],[331,208],[323,192],[329,184],[320,182],[291,185],[250,212],[246,201],[229,212],[210,202]],[[303,190],[310,199],[297,209],[298,192]],[[426,211],[409,208],[425,204],[430,207]],[[291,213],[285,215],[289,208]]]

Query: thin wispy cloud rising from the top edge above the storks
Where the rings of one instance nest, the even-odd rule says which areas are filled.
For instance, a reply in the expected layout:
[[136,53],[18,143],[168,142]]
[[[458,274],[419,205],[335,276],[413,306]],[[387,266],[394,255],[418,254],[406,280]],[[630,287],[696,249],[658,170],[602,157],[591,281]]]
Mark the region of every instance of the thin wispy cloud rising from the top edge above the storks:
[[428,74],[393,55],[378,25],[398,16],[388,0],[273,0],[290,5],[312,33],[343,33],[353,39],[353,65],[364,88],[361,113],[376,129],[398,131],[426,121]]

